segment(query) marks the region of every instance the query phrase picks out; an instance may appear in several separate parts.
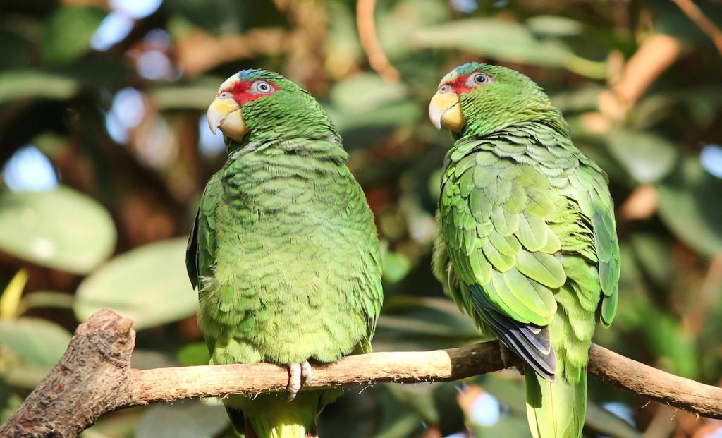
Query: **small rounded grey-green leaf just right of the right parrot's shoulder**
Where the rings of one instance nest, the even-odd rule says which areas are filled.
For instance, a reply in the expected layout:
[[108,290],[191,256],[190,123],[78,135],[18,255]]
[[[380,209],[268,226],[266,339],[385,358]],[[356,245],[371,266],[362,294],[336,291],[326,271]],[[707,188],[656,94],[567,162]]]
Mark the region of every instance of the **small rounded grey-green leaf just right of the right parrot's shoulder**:
[[664,137],[631,129],[614,129],[608,139],[614,158],[641,183],[667,176],[677,163],[677,148]]

